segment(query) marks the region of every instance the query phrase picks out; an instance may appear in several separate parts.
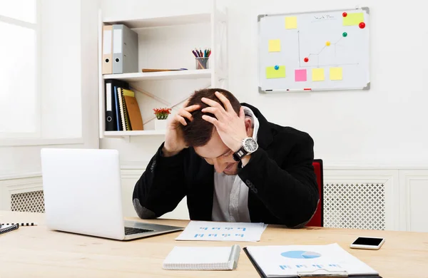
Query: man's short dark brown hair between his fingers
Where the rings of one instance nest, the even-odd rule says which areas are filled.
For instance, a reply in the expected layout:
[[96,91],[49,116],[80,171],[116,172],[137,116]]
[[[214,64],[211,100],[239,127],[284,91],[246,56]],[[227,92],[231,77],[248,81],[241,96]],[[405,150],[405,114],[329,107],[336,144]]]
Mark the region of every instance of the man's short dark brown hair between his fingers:
[[187,118],[185,118],[188,124],[180,125],[181,128],[183,129],[183,136],[184,136],[185,143],[189,147],[200,147],[200,146],[206,145],[208,141],[211,139],[211,136],[213,135],[214,125],[204,120],[202,118],[202,115],[209,115],[213,118],[216,118],[216,117],[212,113],[203,113],[201,111],[203,108],[208,107],[207,104],[201,101],[201,98],[209,98],[209,99],[212,99],[213,101],[217,101],[224,108],[223,103],[220,101],[220,99],[217,98],[217,96],[215,96],[215,92],[219,92],[223,96],[228,98],[228,100],[230,101],[230,104],[233,107],[233,110],[235,110],[236,114],[239,115],[239,111],[241,107],[240,102],[229,91],[226,91],[220,88],[207,88],[207,89],[201,89],[201,90],[195,91],[192,94],[192,96],[190,96],[187,106],[198,104],[200,105],[200,109],[193,111],[192,113],[193,120],[191,122]]

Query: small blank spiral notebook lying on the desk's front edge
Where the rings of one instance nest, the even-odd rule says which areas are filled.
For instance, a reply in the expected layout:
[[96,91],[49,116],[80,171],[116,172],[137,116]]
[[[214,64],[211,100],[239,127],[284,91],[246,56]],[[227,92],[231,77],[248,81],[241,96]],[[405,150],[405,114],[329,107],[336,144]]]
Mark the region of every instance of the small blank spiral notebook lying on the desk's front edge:
[[163,261],[163,269],[233,270],[238,267],[240,246],[174,247]]

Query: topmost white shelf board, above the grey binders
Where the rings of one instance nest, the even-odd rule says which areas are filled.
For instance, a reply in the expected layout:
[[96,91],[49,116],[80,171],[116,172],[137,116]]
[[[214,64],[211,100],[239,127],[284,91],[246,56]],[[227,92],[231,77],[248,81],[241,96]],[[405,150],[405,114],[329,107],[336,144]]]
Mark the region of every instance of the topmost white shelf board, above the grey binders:
[[131,29],[159,27],[159,26],[174,26],[183,24],[200,24],[203,22],[210,22],[211,14],[186,14],[180,16],[165,16],[165,17],[151,17],[146,19],[104,19],[104,24],[125,24]]

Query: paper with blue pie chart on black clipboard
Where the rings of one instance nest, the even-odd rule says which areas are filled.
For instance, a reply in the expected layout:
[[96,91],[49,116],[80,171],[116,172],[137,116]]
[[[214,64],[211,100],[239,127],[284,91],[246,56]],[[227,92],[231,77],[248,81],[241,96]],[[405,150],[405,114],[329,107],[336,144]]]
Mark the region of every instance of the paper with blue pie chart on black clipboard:
[[339,244],[245,247],[251,262],[264,277],[297,277],[299,274],[374,275],[379,273]]

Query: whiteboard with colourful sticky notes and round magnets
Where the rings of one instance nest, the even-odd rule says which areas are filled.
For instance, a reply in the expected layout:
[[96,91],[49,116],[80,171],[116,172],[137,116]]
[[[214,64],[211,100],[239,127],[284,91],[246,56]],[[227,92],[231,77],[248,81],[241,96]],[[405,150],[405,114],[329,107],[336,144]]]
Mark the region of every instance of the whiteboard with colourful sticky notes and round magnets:
[[367,7],[258,16],[260,93],[370,89]]

